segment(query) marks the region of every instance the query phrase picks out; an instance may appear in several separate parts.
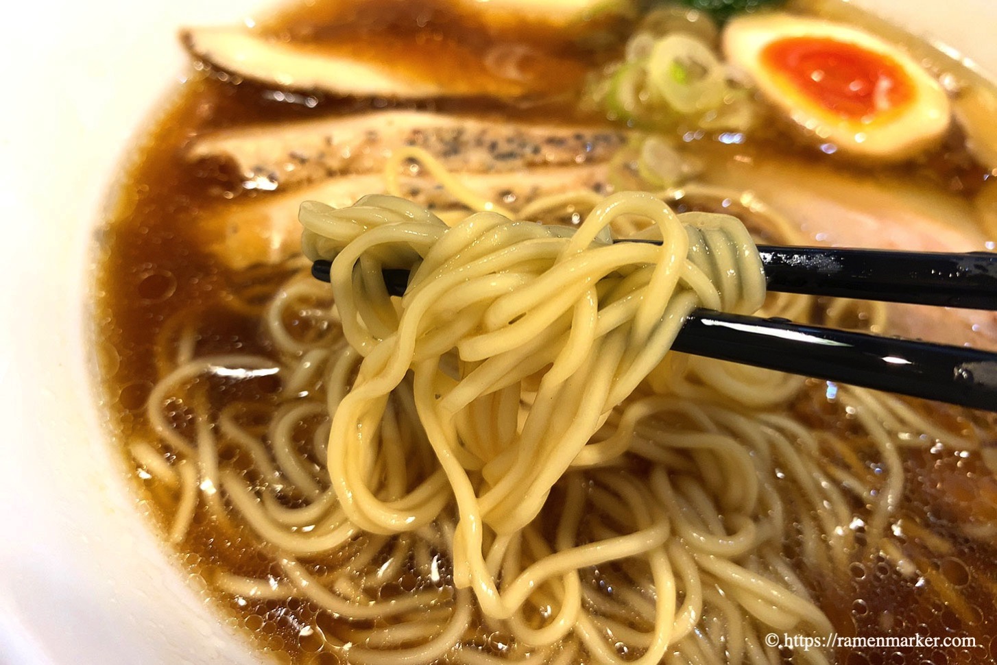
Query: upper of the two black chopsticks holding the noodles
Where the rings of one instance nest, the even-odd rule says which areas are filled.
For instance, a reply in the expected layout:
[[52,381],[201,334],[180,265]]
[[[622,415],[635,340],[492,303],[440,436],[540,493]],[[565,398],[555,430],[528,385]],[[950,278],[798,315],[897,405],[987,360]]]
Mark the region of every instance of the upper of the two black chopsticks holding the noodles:
[[[758,245],[758,251],[770,291],[997,310],[997,253],[774,245]],[[312,265],[323,281],[329,281],[328,271],[328,261]],[[407,271],[384,273],[390,293],[405,293]]]

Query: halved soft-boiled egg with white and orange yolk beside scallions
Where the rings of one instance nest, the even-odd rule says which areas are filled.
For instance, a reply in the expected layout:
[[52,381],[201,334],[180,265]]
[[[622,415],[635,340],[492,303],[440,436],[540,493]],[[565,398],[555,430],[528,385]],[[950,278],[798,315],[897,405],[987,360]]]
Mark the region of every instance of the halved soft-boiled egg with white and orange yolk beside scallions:
[[910,157],[937,142],[951,109],[903,51],[859,29],[789,14],[728,24],[727,58],[777,108],[830,150]]

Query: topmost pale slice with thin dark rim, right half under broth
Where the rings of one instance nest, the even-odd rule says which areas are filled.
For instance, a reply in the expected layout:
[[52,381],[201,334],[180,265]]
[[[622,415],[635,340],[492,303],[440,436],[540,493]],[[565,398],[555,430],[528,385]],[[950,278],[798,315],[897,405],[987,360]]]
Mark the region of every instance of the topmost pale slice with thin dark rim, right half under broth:
[[289,41],[245,26],[207,26],[180,33],[190,55],[225,81],[251,81],[271,90],[336,97],[432,100],[541,98],[579,89],[586,68],[576,60],[516,45],[504,51],[427,40],[326,43]]

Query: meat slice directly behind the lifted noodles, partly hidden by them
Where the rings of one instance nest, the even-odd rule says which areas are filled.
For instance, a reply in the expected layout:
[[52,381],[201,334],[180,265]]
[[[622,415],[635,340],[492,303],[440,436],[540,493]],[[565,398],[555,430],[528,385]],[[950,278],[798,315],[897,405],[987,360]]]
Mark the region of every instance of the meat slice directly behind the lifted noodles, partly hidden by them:
[[[510,172],[457,173],[467,187],[500,205],[518,209],[539,196],[586,189],[608,193],[605,165],[542,166]],[[401,193],[431,209],[461,207],[434,177],[403,175]],[[380,174],[355,174],[292,189],[287,193],[261,194],[250,200],[230,201],[216,214],[206,214],[196,229],[201,246],[231,268],[274,263],[300,251],[302,201],[318,200],[333,207],[352,205],[366,194],[384,193]]]

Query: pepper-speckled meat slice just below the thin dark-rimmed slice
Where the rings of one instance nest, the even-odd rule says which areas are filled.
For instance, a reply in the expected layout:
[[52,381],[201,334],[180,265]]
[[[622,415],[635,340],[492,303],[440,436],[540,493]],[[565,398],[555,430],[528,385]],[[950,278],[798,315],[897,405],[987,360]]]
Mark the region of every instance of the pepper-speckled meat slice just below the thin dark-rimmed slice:
[[247,188],[273,189],[378,172],[402,146],[422,148],[450,170],[484,172],[604,162],[625,140],[597,127],[380,111],[214,132],[194,139],[186,158],[218,161]]

